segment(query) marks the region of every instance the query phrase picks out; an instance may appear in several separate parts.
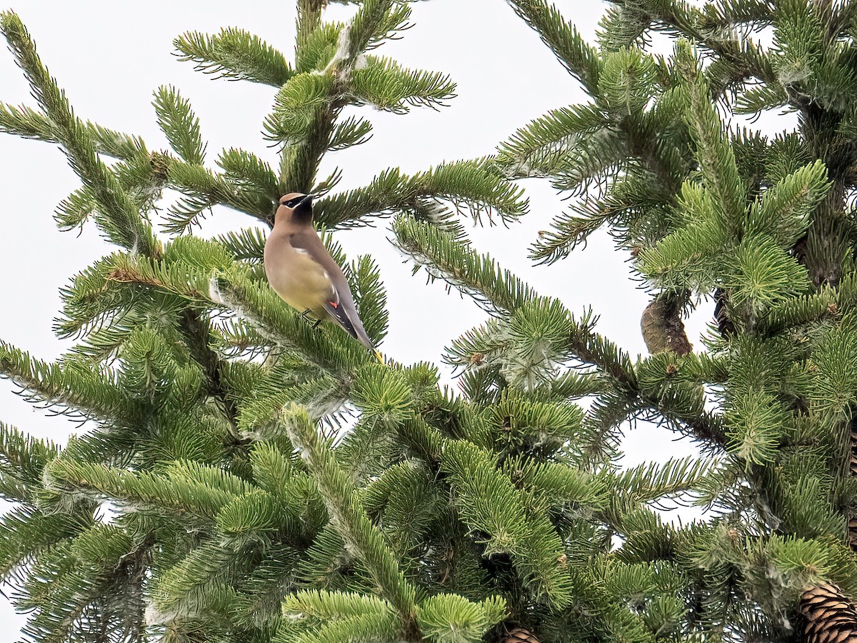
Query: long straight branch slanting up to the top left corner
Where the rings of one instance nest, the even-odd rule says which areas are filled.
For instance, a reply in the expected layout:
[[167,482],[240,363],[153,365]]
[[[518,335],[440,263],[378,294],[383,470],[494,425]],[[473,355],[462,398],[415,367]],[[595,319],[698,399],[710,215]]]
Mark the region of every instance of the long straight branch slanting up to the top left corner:
[[102,212],[99,225],[105,236],[123,248],[133,249],[143,255],[158,255],[158,242],[153,237],[151,227],[142,219],[117,178],[99,160],[89,129],[75,117],[65,94],[41,63],[21,20],[11,12],[0,14],[0,28],[9,41],[17,63],[27,75],[33,96],[56,125],[55,134],[69,159],[69,165],[99,202]]

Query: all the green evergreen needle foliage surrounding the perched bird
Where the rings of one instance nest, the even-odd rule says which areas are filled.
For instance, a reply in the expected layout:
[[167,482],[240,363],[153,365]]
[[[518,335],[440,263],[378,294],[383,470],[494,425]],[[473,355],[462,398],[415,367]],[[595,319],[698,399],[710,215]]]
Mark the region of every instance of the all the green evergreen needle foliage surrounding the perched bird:
[[[205,73],[275,88],[276,167],[234,148],[212,160],[175,87],[153,99],[169,150],[81,120],[17,15],[0,15],[37,103],[0,104],[0,129],[63,149],[81,188],[57,225],[96,225],[117,247],[63,289],[66,355],[0,343],[3,376],[93,427],[60,448],[0,424],[15,503],[0,579],[31,612],[29,640],[786,641],[806,620],[810,640],[857,635],[854,8],[622,0],[590,45],[544,0],[509,2],[590,102],[493,157],[381,167],[339,192],[347,168],[320,177],[322,157],[372,131],[346,107],[454,96],[443,73],[369,53],[408,27],[410,3],[363,0],[339,23],[298,0],[293,60],[236,28],[176,39]],[[793,132],[731,119],[782,107]],[[525,177],[578,197],[534,260],[607,226],[671,328],[717,298],[704,350],[647,337],[654,354],[634,359],[591,310],[480,252],[465,216],[524,215]],[[167,189],[180,197],[164,211]],[[487,321],[446,350],[460,390],[432,364],[378,364],[271,291],[252,224],[294,191],[320,195],[322,238],[376,343],[383,270],[347,261],[348,228],[392,218],[415,273],[482,306]],[[249,227],[195,237],[213,206]],[[637,420],[702,455],[620,469]],[[663,520],[688,500],[705,520]]]

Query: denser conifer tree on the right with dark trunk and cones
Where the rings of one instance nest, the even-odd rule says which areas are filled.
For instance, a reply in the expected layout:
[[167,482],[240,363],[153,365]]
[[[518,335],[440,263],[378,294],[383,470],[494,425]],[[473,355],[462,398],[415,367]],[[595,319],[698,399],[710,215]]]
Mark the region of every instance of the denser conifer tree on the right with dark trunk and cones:
[[[578,197],[532,256],[606,226],[654,295],[653,354],[587,424],[610,437],[654,412],[718,462],[711,520],[620,516],[614,556],[674,571],[689,638],[857,640],[857,5],[619,0],[596,48],[554,6],[510,4],[590,97],[500,146],[507,176]],[[688,353],[681,316],[704,300],[716,320]]]

